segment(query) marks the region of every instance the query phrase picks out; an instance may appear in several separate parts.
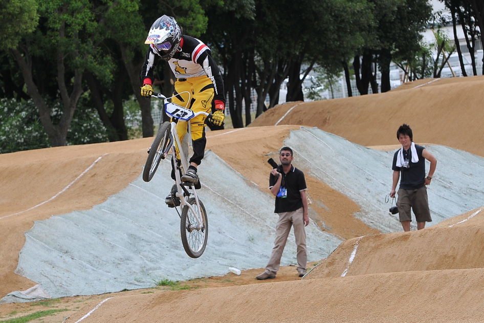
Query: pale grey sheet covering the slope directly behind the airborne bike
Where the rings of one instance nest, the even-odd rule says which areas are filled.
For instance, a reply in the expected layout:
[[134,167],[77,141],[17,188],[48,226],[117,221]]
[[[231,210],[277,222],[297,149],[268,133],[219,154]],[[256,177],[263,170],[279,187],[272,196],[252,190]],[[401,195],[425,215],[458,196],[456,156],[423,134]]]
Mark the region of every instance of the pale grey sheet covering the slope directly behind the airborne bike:
[[[200,198],[208,215],[208,245],[199,259],[191,259],[180,239],[180,218],[164,203],[173,184],[169,174],[169,163],[162,162],[149,183],[140,176],[90,210],[35,222],[26,232],[16,272],[37,282],[50,297],[62,297],[146,288],[162,279],[184,281],[224,275],[229,267],[266,265],[277,221],[267,191],[207,152],[200,167]],[[307,227],[309,261],[324,259],[340,243],[315,223]],[[294,239],[289,239],[281,265],[296,264],[295,252]],[[11,293],[3,302],[22,302],[23,297]]]

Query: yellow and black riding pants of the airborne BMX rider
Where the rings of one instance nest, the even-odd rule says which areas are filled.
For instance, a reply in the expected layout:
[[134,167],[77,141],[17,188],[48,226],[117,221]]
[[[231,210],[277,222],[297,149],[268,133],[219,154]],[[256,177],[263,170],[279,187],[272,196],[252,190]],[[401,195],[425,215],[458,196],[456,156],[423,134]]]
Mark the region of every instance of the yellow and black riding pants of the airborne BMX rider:
[[[186,106],[193,112],[204,111],[210,113],[214,95],[212,81],[207,76],[191,77],[187,79],[178,79],[174,85],[174,97],[172,102],[181,106]],[[190,157],[190,163],[200,165],[205,154],[205,115],[199,115],[189,121],[178,121],[177,133],[180,142],[188,132],[188,122],[190,122],[191,139],[193,142],[193,156]],[[178,152],[179,147],[177,147]],[[180,156],[179,156],[180,157]]]

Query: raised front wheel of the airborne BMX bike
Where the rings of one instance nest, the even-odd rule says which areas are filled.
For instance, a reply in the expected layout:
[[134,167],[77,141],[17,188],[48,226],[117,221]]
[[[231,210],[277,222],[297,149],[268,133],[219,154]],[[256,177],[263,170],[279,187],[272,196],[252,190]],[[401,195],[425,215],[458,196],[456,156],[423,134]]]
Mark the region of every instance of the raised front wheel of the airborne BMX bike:
[[165,158],[163,154],[171,141],[170,126],[171,124],[168,121],[164,122],[158,129],[155,140],[151,144],[143,169],[143,181],[145,182],[149,182],[153,178],[160,161]]

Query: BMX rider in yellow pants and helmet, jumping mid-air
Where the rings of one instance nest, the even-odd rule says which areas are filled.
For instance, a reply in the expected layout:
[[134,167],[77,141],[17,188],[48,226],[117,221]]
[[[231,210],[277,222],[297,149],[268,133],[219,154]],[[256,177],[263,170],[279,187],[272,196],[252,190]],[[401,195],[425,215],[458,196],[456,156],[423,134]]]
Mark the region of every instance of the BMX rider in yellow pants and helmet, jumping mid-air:
[[[182,35],[182,30],[173,17],[166,15],[158,18],[151,26],[145,44],[149,44],[148,53],[141,69],[141,95],[149,98],[153,93],[153,69],[159,59],[168,62],[177,80],[174,83],[172,102],[188,107],[193,112],[205,111],[210,113],[212,101],[215,112],[211,122],[222,125],[225,116],[225,91],[222,76],[217,64],[211,56],[210,49],[199,39]],[[183,92],[189,92],[183,95]],[[189,101],[188,101],[189,100]],[[197,167],[202,162],[207,143],[205,137],[205,115],[190,120],[193,155],[190,166],[182,176],[182,181],[197,184],[199,177]],[[188,122],[179,121],[177,132],[180,142],[188,131]],[[174,179],[174,170],[172,174]],[[171,191],[173,192],[173,190]],[[172,193],[165,199],[168,206],[173,207]]]

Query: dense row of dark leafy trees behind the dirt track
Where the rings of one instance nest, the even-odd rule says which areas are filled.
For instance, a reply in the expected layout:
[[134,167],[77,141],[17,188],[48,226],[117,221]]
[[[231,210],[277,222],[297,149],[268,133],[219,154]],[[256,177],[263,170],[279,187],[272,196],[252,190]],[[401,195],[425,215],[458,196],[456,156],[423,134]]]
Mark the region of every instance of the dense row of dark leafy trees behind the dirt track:
[[[143,136],[153,135],[150,100],[139,90],[140,70],[147,51],[144,39],[162,14],[175,17],[184,34],[209,45],[223,73],[232,123],[243,127],[251,122],[254,99],[256,116],[277,104],[284,80],[289,80],[285,99],[303,100],[302,83],[315,66],[332,75],[343,70],[348,82],[353,59],[364,94],[375,75],[372,64],[378,62],[384,74],[392,56],[412,57],[421,50],[420,31],[430,12],[426,0],[0,4],[0,93],[32,99],[52,146],[66,144],[81,96],[82,104],[97,112],[109,140],[128,138],[123,106],[129,98],[140,106]],[[169,94],[173,80],[166,64],[160,63],[155,75],[156,86]],[[61,113],[53,113],[59,104]]]

